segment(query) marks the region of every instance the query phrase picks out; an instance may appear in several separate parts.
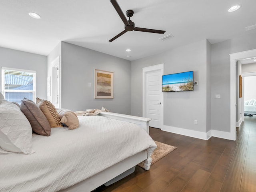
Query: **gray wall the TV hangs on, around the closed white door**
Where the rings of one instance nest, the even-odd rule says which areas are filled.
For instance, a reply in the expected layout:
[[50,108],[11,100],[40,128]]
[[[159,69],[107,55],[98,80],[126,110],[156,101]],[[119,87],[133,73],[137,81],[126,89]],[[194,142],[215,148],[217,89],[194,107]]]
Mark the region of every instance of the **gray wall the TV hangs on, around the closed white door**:
[[[206,132],[207,84],[210,78],[209,44],[202,40],[132,61],[132,115],[142,116],[142,68],[164,63],[164,74],[194,71],[194,91],[164,93],[164,125]],[[210,89],[208,89],[210,90]],[[208,117],[209,119],[209,117]],[[198,125],[194,124],[198,120]]]

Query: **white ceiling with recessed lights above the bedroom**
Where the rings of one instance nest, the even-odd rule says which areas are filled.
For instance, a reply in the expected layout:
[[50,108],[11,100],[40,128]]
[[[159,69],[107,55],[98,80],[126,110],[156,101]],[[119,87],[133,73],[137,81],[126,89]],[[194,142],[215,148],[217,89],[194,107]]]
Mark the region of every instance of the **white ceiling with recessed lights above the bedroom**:
[[[69,42],[127,60],[208,39],[211,44],[255,33],[256,0],[117,0],[124,14],[134,10],[136,27],[165,34],[132,31],[113,42],[124,24],[109,0],[0,0],[0,46],[48,55]],[[242,7],[228,12],[235,4]],[[36,20],[28,16],[36,12]],[[174,38],[158,38],[172,34]],[[125,50],[130,48],[131,52]],[[127,57],[130,55],[130,57]]]

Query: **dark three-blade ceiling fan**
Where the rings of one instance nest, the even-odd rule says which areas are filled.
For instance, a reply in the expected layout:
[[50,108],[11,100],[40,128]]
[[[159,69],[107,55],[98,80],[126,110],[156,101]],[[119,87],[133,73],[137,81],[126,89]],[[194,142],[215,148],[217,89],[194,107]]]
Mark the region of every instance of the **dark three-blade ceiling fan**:
[[122,12],[119,4],[117,3],[116,0],[110,0],[114,8],[116,9],[116,12],[124,22],[124,30],[120,32],[118,35],[114,36],[112,39],[109,40],[109,42],[114,41],[116,38],[120,37],[121,35],[125,34],[128,31],[142,31],[142,32],[150,32],[150,33],[159,33],[159,34],[164,34],[165,31],[162,30],[155,30],[155,29],[146,29],[146,28],[140,28],[140,27],[135,27],[134,22],[130,20],[130,18],[133,16],[134,12],[133,10],[127,10],[126,11],[126,16],[129,17],[129,20],[126,19],[124,13]]

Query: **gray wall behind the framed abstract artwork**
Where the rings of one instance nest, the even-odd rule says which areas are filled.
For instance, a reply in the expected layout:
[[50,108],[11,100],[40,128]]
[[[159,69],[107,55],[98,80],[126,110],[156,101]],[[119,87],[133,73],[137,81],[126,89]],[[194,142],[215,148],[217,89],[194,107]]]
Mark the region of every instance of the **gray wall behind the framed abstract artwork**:
[[[62,108],[131,114],[131,62],[61,42]],[[114,72],[114,98],[94,99],[94,69]],[[91,83],[91,87],[88,86]]]

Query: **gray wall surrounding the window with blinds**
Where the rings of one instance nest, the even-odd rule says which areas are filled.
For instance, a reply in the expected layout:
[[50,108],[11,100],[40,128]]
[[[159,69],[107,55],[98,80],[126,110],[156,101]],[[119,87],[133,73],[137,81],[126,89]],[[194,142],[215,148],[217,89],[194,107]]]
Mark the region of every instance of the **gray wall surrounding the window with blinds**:
[[[0,69],[2,67],[36,71],[36,96],[47,96],[47,57],[0,47]],[[2,72],[0,73],[0,83]],[[1,89],[1,86],[0,86]]]

